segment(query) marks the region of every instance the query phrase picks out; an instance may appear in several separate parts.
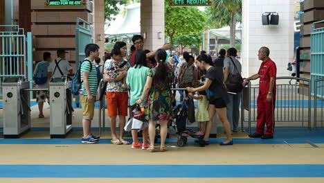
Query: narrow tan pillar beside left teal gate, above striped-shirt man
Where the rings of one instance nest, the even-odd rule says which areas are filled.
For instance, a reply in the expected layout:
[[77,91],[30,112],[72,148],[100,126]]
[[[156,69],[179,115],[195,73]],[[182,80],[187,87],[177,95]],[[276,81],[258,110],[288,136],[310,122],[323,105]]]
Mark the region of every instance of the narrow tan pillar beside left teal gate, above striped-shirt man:
[[[99,58],[105,53],[105,1],[95,0],[94,2],[94,42],[100,47]],[[102,63],[104,60],[101,60]]]

